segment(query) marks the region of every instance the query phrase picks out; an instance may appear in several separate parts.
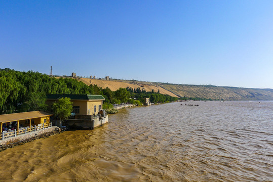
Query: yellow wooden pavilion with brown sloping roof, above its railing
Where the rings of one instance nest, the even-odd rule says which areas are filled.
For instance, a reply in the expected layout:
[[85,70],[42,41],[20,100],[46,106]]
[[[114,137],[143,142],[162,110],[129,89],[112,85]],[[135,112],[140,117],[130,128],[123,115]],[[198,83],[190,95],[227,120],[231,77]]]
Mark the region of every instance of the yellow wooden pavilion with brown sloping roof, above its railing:
[[14,128],[19,130],[19,125],[30,128],[34,125],[44,125],[48,126],[50,123],[50,116],[52,114],[43,111],[31,111],[23,113],[14,114],[3,114],[0,115],[0,131],[2,133],[3,128]]

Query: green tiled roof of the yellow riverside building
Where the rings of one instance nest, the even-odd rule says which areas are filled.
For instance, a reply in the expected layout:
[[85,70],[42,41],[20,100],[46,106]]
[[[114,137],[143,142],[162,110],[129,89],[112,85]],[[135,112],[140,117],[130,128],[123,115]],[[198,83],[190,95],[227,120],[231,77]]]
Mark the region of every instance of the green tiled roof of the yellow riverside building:
[[47,94],[47,99],[70,98],[71,100],[105,100],[101,95],[87,95],[87,94]]

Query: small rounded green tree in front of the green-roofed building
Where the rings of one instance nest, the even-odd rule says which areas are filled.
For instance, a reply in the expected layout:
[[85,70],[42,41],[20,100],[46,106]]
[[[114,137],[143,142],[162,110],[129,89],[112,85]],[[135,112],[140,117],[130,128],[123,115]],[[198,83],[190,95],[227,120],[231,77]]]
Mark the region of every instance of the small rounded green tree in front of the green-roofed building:
[[72,104],[70,98],[59,99],[52,105],[54,115],[59,117],[60,121],[62,121],[62,119],[68,119],[73,111]]

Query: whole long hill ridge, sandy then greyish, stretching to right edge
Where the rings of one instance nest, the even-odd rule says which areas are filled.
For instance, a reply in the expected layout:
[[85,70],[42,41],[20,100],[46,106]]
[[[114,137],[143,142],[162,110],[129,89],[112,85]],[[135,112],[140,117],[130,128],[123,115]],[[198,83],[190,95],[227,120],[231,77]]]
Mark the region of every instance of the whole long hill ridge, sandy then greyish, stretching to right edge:
[[245,100],[245,101],[272,101],[273,89],[270,88],[241,88],[231,86],[215,86],[215,85],[188,85],[188,84],[172,84],[160,82],[146,82],[136,80],[100,80],[90,78],[77,78],[86,84],[97,84],[103,88],[109,87],[116,90],[119,87],[142,87],[147,92],[152,89],[154,92],[160,90],[161,94],[168,94],[176,97],[191,97],[211,100]]

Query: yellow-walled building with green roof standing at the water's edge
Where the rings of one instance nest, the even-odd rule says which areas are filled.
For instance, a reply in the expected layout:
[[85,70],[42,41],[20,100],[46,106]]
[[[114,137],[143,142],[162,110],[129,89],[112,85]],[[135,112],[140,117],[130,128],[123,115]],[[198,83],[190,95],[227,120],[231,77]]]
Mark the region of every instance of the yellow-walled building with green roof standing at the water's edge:
[[48,94],[46,104],[51,106],[53,102],[66,97],[73,103],[73,113],[76,115],[98,114],[105,100],[101,95]]

